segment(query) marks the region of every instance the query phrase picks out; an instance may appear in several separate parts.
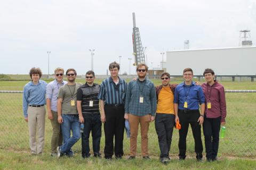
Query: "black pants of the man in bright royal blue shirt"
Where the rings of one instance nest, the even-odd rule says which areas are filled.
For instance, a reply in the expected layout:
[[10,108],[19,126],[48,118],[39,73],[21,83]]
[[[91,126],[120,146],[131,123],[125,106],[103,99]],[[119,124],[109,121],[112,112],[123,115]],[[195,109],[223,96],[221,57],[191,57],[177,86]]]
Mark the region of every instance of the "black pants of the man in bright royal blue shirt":
[[203,152],[203,144],[201,139],[201,125],[197,122],[200,113],[199,111],[193,111],[193,112],[187,112],[185,113],[184,110],[179,110],[178,112],[179,120],[181,129],[179,130],[179,150],[180,154],[179,157],[181,159],[186,158],[186,149],[187,149],[187,134],[188,134],[188,126],[190,124],[193,137],[195,140],[195,152],[196,152],[196,158],[202,158],[202,152]]

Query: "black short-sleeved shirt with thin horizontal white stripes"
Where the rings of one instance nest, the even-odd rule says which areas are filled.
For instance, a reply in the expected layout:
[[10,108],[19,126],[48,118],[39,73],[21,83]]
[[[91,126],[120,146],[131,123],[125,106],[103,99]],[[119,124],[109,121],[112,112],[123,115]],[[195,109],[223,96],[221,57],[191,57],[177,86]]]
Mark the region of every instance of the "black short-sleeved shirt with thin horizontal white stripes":
[[[87,83],[83,84],[77,89],[76,100],[82,101],[82,113],[99,113],[99,99],[100,85],[94,83],[89,86]],[[93,101],[93,106],[90,106],[90,100]]]

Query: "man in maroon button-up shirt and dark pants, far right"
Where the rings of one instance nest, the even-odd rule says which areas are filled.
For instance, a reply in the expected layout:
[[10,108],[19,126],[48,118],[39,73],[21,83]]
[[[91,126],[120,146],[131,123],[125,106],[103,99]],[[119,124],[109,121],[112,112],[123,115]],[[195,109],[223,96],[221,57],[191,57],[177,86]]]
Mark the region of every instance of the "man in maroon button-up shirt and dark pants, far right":
[[225,125],[227,115],[224,87],[214,77],[212,69],[205,69],[206,82],[202,84],[205,96],[203,131],[208,162],[217,160],[220,125]]

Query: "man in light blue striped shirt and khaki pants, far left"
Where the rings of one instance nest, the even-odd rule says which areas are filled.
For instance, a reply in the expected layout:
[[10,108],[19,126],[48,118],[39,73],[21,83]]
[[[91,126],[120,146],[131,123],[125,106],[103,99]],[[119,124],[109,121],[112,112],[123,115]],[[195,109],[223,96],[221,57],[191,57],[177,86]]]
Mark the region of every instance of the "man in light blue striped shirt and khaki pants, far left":
[[[39,80],[42,71],[33,67],[29,71],[31,81],[24,86],[23,90],[23,114],[29,127],[29,145],[31,154],[41,154],[44,148],[45,126],[45,91],[47,83]],[[36,132],[38,142],[36,142]]]

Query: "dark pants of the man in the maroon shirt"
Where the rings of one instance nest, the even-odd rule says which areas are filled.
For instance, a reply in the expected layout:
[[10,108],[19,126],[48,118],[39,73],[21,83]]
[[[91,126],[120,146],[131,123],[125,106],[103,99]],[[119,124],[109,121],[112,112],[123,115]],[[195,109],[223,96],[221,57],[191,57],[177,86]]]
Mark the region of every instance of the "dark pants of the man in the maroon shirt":
[[221,117],[204,118],[203,131],[207,160],[215,160],[218,154],[220,120]]

